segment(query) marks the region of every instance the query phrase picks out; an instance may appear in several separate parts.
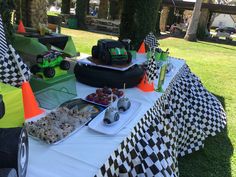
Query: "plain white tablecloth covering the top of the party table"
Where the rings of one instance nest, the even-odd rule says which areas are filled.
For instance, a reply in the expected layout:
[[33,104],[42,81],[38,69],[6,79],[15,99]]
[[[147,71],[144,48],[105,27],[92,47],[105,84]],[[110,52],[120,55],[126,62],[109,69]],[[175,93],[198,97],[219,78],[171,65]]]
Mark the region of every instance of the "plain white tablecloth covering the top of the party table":
[[[166,77],[164,90],[185,63],[183,60],[170,59],[170,61],[174,65],[174,70]],[[81,83],[77,83],[76,87],[80,98],[96,90]],[[85,126],[58,145],[46,145],[30,138],[27,177],[94,176],[162,93],[142,92],[138,88],[131,88],[126,89],[126,95],[130,99],[141,102],[142,106],[137,110],[132,121],[115,136],[100,134]]]

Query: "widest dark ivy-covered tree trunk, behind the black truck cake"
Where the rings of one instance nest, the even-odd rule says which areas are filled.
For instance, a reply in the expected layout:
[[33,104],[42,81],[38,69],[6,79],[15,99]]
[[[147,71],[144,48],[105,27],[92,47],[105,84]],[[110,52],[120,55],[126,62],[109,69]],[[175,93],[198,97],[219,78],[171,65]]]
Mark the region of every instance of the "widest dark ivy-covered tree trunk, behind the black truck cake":
[[156,33],[160,0],[124,0],[120,39],[130,38],[135,49],[149,32]]

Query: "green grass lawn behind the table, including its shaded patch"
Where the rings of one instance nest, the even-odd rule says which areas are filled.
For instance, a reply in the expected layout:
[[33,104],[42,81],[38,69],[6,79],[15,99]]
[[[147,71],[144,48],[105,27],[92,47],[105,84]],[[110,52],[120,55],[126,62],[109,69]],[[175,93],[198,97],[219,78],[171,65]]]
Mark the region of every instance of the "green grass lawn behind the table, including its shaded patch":
[[[71,35],[79,52],[89,53],[100,38],[114,38],[80,30],[62,29]],[[205,148],[179,159],[181,177],[236,177],[236,46],[187,42],[178,38],[159,41],[174,57],[184,58],[203,85],[225,106],[227,128],[209,137]]]

